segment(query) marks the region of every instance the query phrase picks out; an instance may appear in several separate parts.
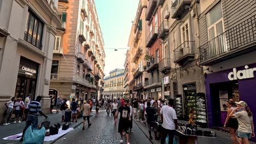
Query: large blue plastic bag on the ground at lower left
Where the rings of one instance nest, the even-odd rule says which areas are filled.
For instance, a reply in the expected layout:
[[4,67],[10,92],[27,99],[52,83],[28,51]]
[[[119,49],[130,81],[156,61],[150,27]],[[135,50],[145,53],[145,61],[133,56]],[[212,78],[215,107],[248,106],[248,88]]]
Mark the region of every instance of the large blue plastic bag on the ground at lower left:
[[45,128],[32,129],[31,125],[26,130],[22,144],[41,144],[44,143]]

